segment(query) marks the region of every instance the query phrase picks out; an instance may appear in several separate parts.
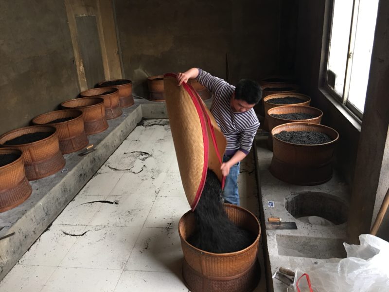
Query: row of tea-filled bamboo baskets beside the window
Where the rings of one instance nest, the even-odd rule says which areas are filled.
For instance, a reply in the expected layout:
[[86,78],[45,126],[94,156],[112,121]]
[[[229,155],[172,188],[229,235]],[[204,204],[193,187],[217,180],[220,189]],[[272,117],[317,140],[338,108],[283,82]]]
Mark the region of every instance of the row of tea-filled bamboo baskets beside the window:
[[[278,82],[270,82],[271,79]],[[339,134],[333,128],[320,125],[323,112],[310,107],[311,98],[298,93],[299,86],[289,83],[290,78],[267,78],[261,81],[263,90],[264,120],[262,128],[270,135],[267,146],[273,151],[270,172],[283,182],[299,185],[317,185],[332,178],[331,160],[335,151],[335,144]],[[277,91],[272,89],[277,88]],[[282,89],[285,90],[282,90]],[[276,104],[273,99],[296,97],[301,100],[294,104]],[[258,110],[258,107],[257,109]],[[261,114],[257,112],[257,114]],[[309,119],[291,120],[273,116],[273,114],[308,113],[313,116]],[[314,131],[327,134],[331,142],[319,145],[299,145],[284,142],[277,137],[282,131]]]

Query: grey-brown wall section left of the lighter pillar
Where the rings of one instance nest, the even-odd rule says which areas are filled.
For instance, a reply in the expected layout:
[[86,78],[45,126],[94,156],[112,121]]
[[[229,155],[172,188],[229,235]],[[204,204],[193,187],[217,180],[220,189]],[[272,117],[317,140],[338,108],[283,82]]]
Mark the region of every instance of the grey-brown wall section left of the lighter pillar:
[[63,1],[0,1],[0,134],[78,93]]

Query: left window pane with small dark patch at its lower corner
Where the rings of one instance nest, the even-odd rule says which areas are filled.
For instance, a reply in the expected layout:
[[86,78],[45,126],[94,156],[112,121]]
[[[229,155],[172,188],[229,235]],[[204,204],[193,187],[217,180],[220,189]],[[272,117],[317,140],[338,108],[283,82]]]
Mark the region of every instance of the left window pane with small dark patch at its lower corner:
[[353,0],[334,0],[327,83],[340,96],[343,95],[352,12]]

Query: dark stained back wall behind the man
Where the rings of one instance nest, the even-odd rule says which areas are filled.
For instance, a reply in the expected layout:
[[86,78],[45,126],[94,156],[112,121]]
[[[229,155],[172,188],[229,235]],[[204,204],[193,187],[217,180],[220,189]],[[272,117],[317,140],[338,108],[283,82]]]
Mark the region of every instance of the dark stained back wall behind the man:
[[231,83],[278,73],[281,2],[115,0],[124,76],[145,97],[152,75],[201,67],[226,78],[226,53]]

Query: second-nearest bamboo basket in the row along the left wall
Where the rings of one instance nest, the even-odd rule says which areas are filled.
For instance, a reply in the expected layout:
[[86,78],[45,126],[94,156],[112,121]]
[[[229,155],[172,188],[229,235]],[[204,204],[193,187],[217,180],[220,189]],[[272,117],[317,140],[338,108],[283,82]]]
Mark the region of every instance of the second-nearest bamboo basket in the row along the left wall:
[[[49,137],[39,141],[19,145],[5,145],[6,141],[36,132],[50,132]],[[18,148],[23,152],[23,163],[29,181],[48,177],[65,165],[65,159],[59,149],[57,129],[52,126],[30,126],[18,128],[0,136],[0,145]]]

